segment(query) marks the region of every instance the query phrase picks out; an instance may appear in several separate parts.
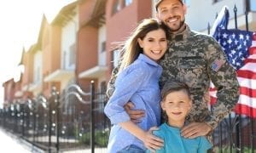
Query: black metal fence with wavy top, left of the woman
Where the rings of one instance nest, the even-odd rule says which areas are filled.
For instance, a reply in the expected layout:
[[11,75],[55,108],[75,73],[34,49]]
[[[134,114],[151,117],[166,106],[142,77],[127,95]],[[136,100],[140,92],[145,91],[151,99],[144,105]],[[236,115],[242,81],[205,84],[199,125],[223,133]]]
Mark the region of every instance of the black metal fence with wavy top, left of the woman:
[[94,82],[88,93],[75,84],[62,94],[53,88],[49,98],[41,95],[5,107],[1,110],[1,126],[48,152],[95,152],[96,148],[106,152],[110,130],[103,114],[106,100],[105,92],[96,92]]

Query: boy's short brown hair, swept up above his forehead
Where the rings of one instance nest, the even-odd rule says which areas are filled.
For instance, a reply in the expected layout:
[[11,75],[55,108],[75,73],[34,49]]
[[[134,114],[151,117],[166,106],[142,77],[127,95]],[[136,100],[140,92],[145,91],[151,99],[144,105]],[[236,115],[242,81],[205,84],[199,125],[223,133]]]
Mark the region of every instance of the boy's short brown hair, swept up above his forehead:
[[185,90],[190,98],[189,86],[186,83],[179,81],[166,82],[161,90],[161,99],[166,99],[167,94],[180,90]]

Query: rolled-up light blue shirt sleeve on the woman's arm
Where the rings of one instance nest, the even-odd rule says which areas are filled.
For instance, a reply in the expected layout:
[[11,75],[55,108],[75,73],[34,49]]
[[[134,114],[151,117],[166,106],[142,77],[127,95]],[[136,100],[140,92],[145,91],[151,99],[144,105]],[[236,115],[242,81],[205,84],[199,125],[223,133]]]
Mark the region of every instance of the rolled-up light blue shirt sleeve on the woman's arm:
[[131,99],[145,82],[147,71],[143,67],[130,66],[119,73],[115,82],[115,90],[104,108],[104,113],[112,124],[130,121],[124,105]]

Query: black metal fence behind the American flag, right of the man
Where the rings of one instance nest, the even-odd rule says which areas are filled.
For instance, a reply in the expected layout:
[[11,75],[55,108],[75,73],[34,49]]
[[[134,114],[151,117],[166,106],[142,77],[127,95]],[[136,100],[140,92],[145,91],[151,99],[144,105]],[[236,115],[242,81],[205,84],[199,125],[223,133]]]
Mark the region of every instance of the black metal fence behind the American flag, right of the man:
[[[246,30],[248,31],[248,12],[252,11],[252,1],[245,1],[245,20]],[[233,9],[235,28],[237,27],[237,8],[236,5]],[[208,33],[210,33],[210,26],[208,26]],[[256,103],[256,101],[251,101]],[[256,152],[256,118],[248,116],[237,115],[232,112],[227,116],[224,121],[220,122],[218,127],[213,133],[213,143],[215,152],[241,152],[241,153],[253,153]]]

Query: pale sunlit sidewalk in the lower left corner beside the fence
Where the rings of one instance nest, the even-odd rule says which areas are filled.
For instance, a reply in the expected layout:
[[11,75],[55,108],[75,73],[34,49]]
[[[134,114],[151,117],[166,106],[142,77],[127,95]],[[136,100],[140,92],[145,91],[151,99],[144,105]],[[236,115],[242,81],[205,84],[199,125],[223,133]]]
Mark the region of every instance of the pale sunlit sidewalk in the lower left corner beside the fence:
[[42,153],[31,144],[26,143],[26,141],[15,137],[14,135],[4,131],[0,128],[0,144],[1,152],[9,153]]

